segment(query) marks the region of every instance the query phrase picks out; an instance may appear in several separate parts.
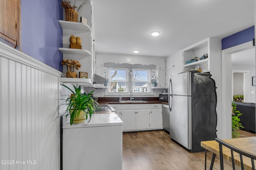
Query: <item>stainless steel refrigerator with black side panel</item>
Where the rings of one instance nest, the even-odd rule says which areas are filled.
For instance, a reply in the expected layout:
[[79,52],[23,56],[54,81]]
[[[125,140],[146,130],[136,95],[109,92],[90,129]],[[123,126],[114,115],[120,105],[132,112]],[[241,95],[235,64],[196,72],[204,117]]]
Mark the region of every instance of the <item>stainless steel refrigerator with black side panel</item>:
[[191,152],[204,150],[201,141],[216,138],[216,87],[210,73],[170,76],[170,137]]

